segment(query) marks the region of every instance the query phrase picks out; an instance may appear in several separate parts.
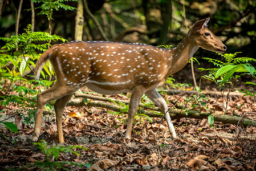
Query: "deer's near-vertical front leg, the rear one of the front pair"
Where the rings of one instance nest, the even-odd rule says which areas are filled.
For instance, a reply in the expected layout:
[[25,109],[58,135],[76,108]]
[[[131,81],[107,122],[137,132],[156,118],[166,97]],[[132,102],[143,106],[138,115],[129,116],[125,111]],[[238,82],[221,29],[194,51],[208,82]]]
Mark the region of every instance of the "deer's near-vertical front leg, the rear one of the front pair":
[[134,87],[132,90],[132,95],[129,103],[128,122],[125,139],[131,139],[133,119],[135,117],[137,109],[139,108],[140,100],[144,92],[145,89],[141,86]]

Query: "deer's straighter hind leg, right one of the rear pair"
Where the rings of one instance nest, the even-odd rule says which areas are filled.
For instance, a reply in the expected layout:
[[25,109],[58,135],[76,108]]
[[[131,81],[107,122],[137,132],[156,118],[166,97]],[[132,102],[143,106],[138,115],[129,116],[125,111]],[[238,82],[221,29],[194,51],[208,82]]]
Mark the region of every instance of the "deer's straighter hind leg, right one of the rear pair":
[[62,114],[63,114],[64,108],[66,107],[68,101],[70,101],[72,95],[73,94],[66,95],[66,96],[56,100],[56,102],[54,104],[59,143],[64,143],[63,131],[62,131]]

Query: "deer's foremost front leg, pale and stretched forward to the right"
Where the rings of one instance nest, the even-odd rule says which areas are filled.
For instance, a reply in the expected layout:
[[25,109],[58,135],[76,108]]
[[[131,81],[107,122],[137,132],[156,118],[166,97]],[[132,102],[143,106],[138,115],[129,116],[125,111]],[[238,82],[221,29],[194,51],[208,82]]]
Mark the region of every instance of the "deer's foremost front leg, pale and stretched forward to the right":
[[170,119],[168,107],[164,98],[162,98],[162,96],[156,91],[156,89],[151,89],[145,92],[145,95],[148,96],[149,99],[151,99],[158,107],[161,108],[162,112],[164,113],[170,135],[172,136],[173,139],[176,139],[177,138],[176,132],[173,127],[172,120]]

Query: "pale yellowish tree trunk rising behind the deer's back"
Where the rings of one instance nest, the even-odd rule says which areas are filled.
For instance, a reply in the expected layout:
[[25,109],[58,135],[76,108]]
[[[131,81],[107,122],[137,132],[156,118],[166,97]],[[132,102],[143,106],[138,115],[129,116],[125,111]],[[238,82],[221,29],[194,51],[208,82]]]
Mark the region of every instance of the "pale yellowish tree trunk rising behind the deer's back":
[[83,40],[83,25],[84,25],[84,16],[83,16],[83,2],[78,0],[78,8],[76,9],[76,18],[75,18],[75,40]]

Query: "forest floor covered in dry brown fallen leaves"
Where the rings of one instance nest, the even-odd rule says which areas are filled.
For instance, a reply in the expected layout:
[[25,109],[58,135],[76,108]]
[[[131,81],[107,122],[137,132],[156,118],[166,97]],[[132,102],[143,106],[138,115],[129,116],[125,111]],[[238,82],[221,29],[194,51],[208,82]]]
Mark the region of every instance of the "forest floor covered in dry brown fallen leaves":
[[[180,96],[166,95],[165,100]],[[108,97],[128,100],[123,95]],[[208,97],[208,107],[214,113],[221,114],[222,98]],[[58,144],[56,140],[54,116],[43,117],[39,139],[47,141],[47,147],[42,152],[32,144],[34,124],[24,124],[20,117],[15,116],[16,105],[1,106],[0,111],[2,109],[7,110],[1,113],[1,120],[13,116],[10,119],[18,125],[19,131],[13,133],[0,127],[0,170],[47,170],[47,167],[53,170],[57,163],[64,161],[91,164],[92,170],[256,170],[255,127],[237,127],[221,122],[214,122],[210,127],[206,119],[182,118],[173,120],[178,139],[172,140],[166,122],[160,123],[161,118],[152,118],[151,123],[145,117],[136,116],[132,139],[127,143],[124,141],[127,115],[113,115],[106,109],[94,107],[66,107],[63,144]],[[231,96],[227,115],[233,115],[233,111],[241,116],[247,113],[246,117],[255,121],[255,99]],[[68,116],[70,112],[82,115]],[[56,153],[59,145],[80,145],[87,150],[74,148],[80,156],[71,152]],[[47,153],[49,151],[52,156]],[[57,156],[58,160],[55,160]],[[86,166],[63,165],[71,170],[87,169]]]

